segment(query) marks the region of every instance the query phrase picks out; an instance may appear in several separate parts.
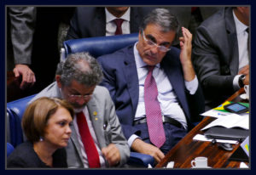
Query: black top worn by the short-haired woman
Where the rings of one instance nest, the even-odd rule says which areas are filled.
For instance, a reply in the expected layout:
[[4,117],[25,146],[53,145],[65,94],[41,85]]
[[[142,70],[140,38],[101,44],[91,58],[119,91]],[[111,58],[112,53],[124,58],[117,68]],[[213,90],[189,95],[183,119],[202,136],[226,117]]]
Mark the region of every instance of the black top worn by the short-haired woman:
[[[67,167],[67,155],[64,148],[55,150],[52,156],[53,167]],[[15,148],[14,152],[7,158],[7,167],[49,168],[33,150],[31,142],[22,143]]]

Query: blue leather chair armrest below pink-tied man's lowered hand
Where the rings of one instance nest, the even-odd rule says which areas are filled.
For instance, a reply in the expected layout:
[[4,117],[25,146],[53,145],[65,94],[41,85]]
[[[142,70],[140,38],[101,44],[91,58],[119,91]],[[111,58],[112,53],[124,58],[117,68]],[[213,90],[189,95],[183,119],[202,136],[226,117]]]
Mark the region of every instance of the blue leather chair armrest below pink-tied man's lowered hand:
[[150,164],[154,167],[154,157],[142,153],[131,152],[127,164],[136,167],[148,167],[148,164]]

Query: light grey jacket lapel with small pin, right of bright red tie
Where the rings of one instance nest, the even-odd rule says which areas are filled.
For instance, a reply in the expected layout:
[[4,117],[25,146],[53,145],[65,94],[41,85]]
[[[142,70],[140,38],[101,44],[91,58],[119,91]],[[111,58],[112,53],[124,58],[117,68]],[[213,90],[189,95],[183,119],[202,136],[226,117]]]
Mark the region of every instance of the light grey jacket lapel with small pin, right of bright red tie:
[[100,149],[106,146],[106,140],[103,133],[103,119],[104,116],[99,116],[100,112],[97,109],[96,102],[92,98],[87,104],[87,108],[90,115],[90,121],[94,128],[94,132],[96,134],[97,141],[99,143]]

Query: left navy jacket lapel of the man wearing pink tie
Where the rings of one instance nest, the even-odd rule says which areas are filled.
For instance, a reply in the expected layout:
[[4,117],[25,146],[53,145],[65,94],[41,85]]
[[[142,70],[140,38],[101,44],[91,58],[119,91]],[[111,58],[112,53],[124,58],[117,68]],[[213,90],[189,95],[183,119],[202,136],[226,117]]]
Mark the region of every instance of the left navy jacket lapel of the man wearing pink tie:
[[128,52],[125,55],[125,61],[124,61],[124,65],[125,65],[124,75],[127,82],[128,92],[130,93],[130,97],[131,97],[132,114],[133,114],[132,116],[135,116],[135,112],[137,110],[138,95],[139,95],[137,67],[136,67],[134,53],[133,53],[133,46],[127,49],[128,49]]

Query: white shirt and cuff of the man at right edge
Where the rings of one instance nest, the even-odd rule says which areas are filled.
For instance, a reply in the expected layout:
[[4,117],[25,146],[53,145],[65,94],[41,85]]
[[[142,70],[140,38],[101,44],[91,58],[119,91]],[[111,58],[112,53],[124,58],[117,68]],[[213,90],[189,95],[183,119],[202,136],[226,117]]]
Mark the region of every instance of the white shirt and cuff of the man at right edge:
[[[247,38],[248,38],[248,33],[246,31],[247,25],[244,25],[240,20],[237,19],[236,14],[233,10],[233,16],[235,20],[235,25],[236,25],[236,37],[237,37],[237,43],[238,43],[238,55],[239,55],[239,71],[241,70],[242,67],[245,65],[249,65],[249,54],[247,50]],[[239,77],[241,75],[236,75],[234,80],[233,80],[233,86],[236,90],[238,90],[239,87]]]

